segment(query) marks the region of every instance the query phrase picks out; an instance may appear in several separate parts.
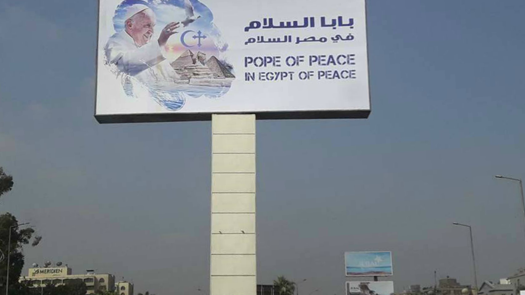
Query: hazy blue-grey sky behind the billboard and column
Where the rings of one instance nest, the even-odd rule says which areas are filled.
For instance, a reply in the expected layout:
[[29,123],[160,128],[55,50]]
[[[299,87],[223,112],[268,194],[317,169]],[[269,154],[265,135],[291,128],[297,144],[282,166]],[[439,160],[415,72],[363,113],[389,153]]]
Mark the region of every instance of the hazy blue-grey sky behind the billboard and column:
[[[211,0],[209,0],[211,1]],[[525,266],[525,1],[370,0],[372,114],[257,123],[258,282],[344,293],[343,253],[392,250],[396,290]],[[211,123],[99,125],[97,1],[0,0],[0,211],[135,293],[209,288]],[[25,271],[25,270],[24,270]]]

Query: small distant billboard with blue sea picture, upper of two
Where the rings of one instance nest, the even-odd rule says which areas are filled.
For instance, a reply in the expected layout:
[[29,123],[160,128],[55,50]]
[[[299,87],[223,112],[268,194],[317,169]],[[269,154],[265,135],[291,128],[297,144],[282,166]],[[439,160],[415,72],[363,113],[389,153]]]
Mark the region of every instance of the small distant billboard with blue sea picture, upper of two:
[[347,277],[392,276],[392,252],[345,252]]

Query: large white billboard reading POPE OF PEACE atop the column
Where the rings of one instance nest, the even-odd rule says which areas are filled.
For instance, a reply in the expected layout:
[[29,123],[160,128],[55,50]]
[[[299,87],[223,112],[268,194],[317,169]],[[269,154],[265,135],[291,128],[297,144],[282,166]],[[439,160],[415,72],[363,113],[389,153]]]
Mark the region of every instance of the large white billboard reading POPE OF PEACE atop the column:
[[99,0],[101,123],[365,118],[365,0]]

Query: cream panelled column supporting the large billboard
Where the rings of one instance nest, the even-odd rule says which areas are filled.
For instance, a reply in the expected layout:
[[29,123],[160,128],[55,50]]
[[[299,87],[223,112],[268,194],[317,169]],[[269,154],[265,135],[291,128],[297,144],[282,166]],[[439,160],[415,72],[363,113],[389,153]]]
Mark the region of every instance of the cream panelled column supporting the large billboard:
[[255,115],[212,116],[210,295],[256,295]]

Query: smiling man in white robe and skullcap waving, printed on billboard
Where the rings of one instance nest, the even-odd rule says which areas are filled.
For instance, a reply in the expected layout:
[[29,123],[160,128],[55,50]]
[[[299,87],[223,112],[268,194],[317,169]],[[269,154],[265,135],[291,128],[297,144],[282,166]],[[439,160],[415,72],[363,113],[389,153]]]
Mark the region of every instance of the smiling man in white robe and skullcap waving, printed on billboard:
[[107,62],[141,82],[173,82],[177,73],[165,58],[164,46],[180,22],[167,24],[157,40],[151,40],[155,32],[155,13],[144,4],[125,8],[124,29],[111,36],[104,47]]

